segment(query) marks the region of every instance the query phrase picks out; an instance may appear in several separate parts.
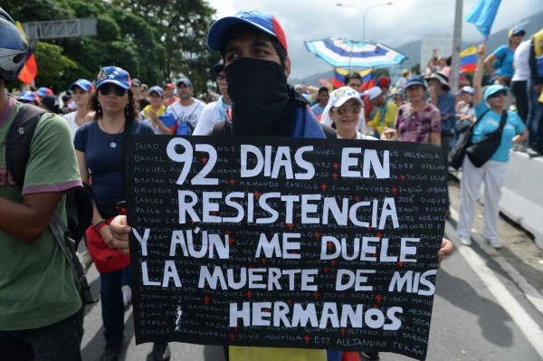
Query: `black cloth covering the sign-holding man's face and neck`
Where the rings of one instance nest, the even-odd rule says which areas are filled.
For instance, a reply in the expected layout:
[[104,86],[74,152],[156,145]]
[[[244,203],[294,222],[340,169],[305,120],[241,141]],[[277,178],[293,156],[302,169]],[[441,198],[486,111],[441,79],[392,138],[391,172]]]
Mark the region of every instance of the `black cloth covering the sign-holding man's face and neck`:
[[235,136],[289,137],[294,127],[294,103],[287,77],[276,62],[243,58],[224,68],[232,100]]

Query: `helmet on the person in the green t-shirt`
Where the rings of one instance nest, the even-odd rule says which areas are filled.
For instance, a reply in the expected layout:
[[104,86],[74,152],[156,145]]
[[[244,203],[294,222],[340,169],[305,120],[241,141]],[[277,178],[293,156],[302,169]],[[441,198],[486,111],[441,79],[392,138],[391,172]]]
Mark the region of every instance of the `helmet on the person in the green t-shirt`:
[[23,70],[28,41],[14,19],[0,7],[0,77],[14,81]]

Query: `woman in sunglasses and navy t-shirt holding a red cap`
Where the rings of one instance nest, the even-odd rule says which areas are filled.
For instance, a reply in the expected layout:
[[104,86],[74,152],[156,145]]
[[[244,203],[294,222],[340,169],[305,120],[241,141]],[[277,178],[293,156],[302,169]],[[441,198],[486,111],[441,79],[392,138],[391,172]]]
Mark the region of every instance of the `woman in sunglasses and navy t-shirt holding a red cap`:
[[81,180],[92,174],[94,212],[87,230],[90,255],[100,271],[100,299],[106,347],[102,361],[119,359],[124,338],[124,304],[121,285],[128,275],[129,257],[111,250],[110,220],[119,214],[117,204],[124,201],[122,140],[125,134],[154,134],[138,121],[138,105],[130,90],[130,75],[118,67],[102,68],[96,92],[90,97],[94,121],[85,123],[75,134],[74,145]]

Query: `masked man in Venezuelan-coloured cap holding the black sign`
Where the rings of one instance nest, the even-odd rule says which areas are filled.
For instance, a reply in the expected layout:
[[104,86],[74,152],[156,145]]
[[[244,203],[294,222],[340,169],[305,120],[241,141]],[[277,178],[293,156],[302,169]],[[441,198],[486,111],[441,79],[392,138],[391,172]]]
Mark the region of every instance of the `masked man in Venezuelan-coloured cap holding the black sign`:
[[[224,56],[224,71],[233,100],[232,118],[224,128],[224,134],[325,138],[305,102],[287,84],[291,62],[287,56],[286,36],[272,14],[244,11],[220,19],[210,29],[208,45]],[[262,87],[262,82],[266,86]],[[110,229],[114,244],[119,250],[128,252],[131,229],[126,217],[116,218],[110,224]],[[452,242],[443,240],[438,261],[451,253]],[[179,318],[182,315],[183,311],[180,310]],[[231,348],[231,360],[263,361],[287,356],[289,359],[317,361],[327,357],[323,350]],[[338,360],[339,357],[340,352],[330,352],[328,359]]]

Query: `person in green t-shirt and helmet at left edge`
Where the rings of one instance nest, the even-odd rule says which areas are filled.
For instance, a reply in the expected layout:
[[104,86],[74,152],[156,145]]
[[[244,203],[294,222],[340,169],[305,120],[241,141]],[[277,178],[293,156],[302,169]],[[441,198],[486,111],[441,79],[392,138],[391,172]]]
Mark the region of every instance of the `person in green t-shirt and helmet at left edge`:
[[2,8],[0,33],[0,360],[81,360],[81,297],[50,226],[54,214],[66,223],[65,194],[82,186],[71,132],[60,116],[31,109],[39,120],[28,122],[24,181],[15,182],[6,143],[30,130],[25,123],[7,138],[8,130],[33,106],[8,97],[5,84],[22,71],[28,41]]

